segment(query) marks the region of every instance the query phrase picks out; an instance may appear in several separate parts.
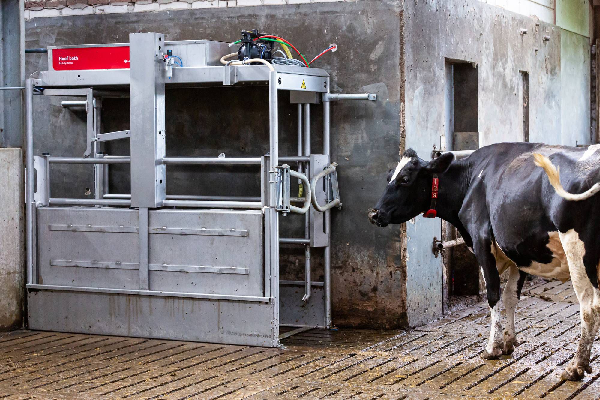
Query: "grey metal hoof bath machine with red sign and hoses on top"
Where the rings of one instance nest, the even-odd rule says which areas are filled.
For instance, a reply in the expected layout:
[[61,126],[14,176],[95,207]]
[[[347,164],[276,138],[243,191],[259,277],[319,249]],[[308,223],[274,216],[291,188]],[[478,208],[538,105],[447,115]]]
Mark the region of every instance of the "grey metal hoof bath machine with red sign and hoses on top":
[[[130,43],[49,48],[49,70],[34,73],[25,88],[31,329],[276,347],[280,326],[331,327],[329,210],[341,202],[329,160],[329,105],[375,96],[330,94],[329,74],[310,68],[299,52],[292,58],[289,47],[295,49],[274,35],[243,31],[232,44],[140,33]],[[245,84],[268,85],[265,156],[166,155],[165,87]],[[278,151],[280,91],[298,103],[297,156]],[[119,92],[130,97],[130,129],[100,132],[101,100]],[[34,95],[71,96],[62,106],[85,108],[83,157],[34,156]],[[323,153],[311,154],[317,103]],[[104,154],[103,142],[113,140],[130,141],[130,156]],[[93,164],[94,198],[52,198],[52,163]],[[116,163],[130,164],[131,195],[108,191],[107,171]],[[262,195],[169,196],[172,164],[260,165]],[[290,196],[292,179],[302,182],[298,197]],[[287,213],[305,214],[304,237],[280,237],[279,216]],[[305,247],[304,282],[279,279],[280,243]],[[311,281],[314,247],[325,252],[323,282]]]

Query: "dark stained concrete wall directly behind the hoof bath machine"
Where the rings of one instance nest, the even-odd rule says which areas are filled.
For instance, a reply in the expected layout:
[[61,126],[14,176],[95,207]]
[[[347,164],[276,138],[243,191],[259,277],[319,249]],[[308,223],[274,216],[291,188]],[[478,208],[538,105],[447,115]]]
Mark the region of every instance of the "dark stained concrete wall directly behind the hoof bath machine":
[[[338,326],[398,327],[406,323],[404,273],[397,227],[377,229],[367,220],[398,160],[400,144],[400,2],[324,2],[310,5],[227,7],[161,13],[36,18],[26,23],[26,47],[128,41],[130,32],[160,31],[167,40],[230,41],[243,28],[277,32],[308,55],[329,43],[340,49],[314,64],[331,73],[333,92],[377,93],[377,102],[332,104],[332,161],[340,167],[343,210],[332,211],[332,297]],[[307,30],[307,26],[315,29]],[[28,74],[47,68],[43,55],[28,56]],[[259,156],[268,151],[264,87],[167,91],[167,155]],[[83,115],[60,107],[61,98],[35,97],[35,154],[80,156]],[[245,111],[242,111],[245,110]],[[280,102],[280,154],[296,154],[296,106]],[[322,149],[322,107],[313,107],[313,151]],[[104,132],[127,129],[127,99],[103,103]],[[128,154],[116,144],[110,154]],[[62,168],[61,168],[62,167]],[[64,175],[59,172],[70,171]],[[224,172],[223,172],[224,171]],[[236,171],[236,175],[229,172]],[[91,168],[56,165],[53,197],[84,197]],[[113,168],[113,193],[129,193],[128,169]],[[167,168],[167,193],[259,195],[259,177],[244,169]],[[89,196],[88,196],[89,197]],[[281,218],[281,234],[299,236],[302,218]],[[316,278],[322,250],[314,249]],[[282,279],[298,276],[298,249],[282,250]]]

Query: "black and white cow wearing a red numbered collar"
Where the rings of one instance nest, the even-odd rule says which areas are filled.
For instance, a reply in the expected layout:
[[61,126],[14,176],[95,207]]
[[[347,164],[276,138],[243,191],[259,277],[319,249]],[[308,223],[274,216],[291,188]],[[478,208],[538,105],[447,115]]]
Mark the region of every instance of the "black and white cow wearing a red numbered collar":
[[[541,154],[535,162],[552,183],[534,163],[534,154]],[[566,190],[552,163],[563,171]],[[421,213],[437,214],[458,229],[485,279],[492,323],[484,359],[511,354],[519,344],[515,308],[527,273],[563,282],[572,279],[581,309],[581,339],[562,377],[580,380],[592,371],[590,352],[600,326],[600,195],[593,196],[600,190],[598,181],[600,145],[586,149],[499,143],[463,160],[446,153],[430,162],[409,149],[389,171],[369,219],[383,227]],[[502,333],[500,274],[506,270]]]

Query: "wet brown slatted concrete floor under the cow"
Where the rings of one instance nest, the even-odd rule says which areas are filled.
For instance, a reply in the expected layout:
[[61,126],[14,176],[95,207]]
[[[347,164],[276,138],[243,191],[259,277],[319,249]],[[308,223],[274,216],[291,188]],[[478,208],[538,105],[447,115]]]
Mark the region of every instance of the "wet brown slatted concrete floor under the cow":
[[592,374],[560,380],[580,331],[569,283],[525,292],[512,356],[479,358],[489,324],[480,303],[412,332],[311,330],[281,349],[19,331],[0,338],[0,398],[600,399],[598,344]]

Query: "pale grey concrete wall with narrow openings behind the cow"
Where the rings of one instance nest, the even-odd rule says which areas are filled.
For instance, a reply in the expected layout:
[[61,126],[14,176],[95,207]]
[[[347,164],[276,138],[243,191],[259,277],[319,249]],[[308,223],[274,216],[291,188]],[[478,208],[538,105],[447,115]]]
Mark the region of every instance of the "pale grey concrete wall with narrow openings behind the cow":
[[[530,79],[530,141],[589,143],[589,55],[583,55],[589,47],[568,44],[569,58],[578,59],[569,66],[577,73],[565,74],[562,32],[553,25],[538,25],[536,19],[472,0],[416,0],[404,7],[404,36],[410,39],[405,58],[406,147],[428,159],[445,135],[448,59],[478,67],[480,146],[523,139],[520,71],[527,71]],[[520,28],[528,33],[521,35]],[[550,40],[544,41],[544,35]],[[569,119],[562,124],[562,118]],[[568,133],[561,126],[569,127]],[[433,237],[440,236],[440,222],[417,217],[407,224],[407,236],[407,315],[417,325],[442,314],[441,258],[430,250]]]

